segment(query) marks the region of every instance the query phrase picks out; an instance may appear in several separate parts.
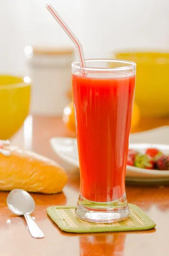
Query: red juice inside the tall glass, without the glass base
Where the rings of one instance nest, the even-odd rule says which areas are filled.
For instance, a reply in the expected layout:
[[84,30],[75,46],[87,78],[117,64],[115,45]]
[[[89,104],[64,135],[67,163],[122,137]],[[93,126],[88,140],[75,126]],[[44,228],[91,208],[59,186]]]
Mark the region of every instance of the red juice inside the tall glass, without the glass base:
[[125,194],[135,76],[89,75],[72,75],[80,194],[94,202],[116,201]]

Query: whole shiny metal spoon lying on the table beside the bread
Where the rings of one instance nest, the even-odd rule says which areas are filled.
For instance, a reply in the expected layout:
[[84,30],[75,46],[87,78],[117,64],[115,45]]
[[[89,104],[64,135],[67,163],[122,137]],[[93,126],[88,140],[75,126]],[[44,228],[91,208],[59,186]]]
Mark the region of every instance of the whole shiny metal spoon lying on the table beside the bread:
[[44,234],[29,214],[34,211],[35,203],[32,196],[23,189],[13,189],[7,197],[9,209],[17,215],[24,215],[29,231],[34,238],[43,238]]

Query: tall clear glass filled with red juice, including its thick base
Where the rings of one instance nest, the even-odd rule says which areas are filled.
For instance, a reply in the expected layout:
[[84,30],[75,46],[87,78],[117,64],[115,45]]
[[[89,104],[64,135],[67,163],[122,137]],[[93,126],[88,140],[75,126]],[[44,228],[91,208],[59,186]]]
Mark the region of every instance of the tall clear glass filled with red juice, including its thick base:
[[72,89],[80,165],[75,213],[91,222],[128,217],[125,192],[136,64],[115,59],[72,63]]

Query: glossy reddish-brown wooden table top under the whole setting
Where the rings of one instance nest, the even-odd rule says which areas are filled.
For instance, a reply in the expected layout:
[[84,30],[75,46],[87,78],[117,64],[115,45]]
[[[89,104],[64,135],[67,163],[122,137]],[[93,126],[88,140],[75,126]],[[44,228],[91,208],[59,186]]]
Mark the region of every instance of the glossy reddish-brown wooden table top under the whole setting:
[[[158,120],[169,124],[168,119]],[[154,126],[158,126],[154,122]],[[152,120],[144,119],[137,131],[152,128]],[[63,192],[56,195],[32,194],[36,203],[32,213],[45,234],[44,239],[33,239],[26,230],[24,218],[12,214],[6,205],[8,192],[0,192],[0,256],[159,256],[169,255],[169,187],[126,186],[128,201],[141,207],[157,224],[156,228],[142,232],[69,234],[60,231],[46,215],[52,205],[75,205],[80,176],[78,170],[65,166],[49,145],[53,136],[73,136],[60,118],[29,116],[23,128],[12,140],[25,149],[51,157],[62,164],[69,182]]]

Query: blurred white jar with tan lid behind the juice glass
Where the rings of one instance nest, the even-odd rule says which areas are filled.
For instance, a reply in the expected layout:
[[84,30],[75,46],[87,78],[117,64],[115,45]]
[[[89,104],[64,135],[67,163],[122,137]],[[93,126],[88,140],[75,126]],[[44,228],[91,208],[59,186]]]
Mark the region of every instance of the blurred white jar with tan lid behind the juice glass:
[[32,79],[31,112],[59,116],[69,103],[66,94],[71,90],[73,49],[25,47],[29,75]]

